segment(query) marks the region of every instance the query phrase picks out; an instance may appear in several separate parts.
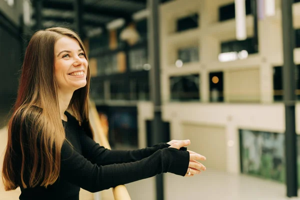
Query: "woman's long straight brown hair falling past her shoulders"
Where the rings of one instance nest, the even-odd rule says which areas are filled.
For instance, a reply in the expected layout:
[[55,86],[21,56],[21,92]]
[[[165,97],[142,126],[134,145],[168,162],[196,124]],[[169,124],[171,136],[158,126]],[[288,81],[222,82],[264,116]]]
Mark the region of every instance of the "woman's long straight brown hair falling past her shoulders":
[[[17,99],[8,122],[8,140],[2,178],[5,190],[47,186],[59,175],[60,150],[65,132],[60,118],[57,82],[54,78],[54,44],[62,36],[78,41],[87,59],[79,36],[72,30],[53,27],[39,30],[31,37],[24,56]],[[88,119],[89,67],[86,85],[74,91],[67,111],[76,117],[91,138]],[[19,149],[19,170],[15,170],[15,149]],[[28,163],[25,157],[29,156]],[[28,160],[28,158],[27,158]]]

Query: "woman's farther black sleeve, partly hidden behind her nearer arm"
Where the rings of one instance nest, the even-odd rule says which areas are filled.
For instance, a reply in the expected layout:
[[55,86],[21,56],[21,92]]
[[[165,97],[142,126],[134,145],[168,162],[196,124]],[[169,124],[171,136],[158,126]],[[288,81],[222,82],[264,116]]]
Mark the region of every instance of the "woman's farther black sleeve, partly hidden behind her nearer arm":
[[97,165],[106,165],[113,163],[124,163],[141,160],[150,156],[159,149],[170,146],[167,143],[159,143],[152,147],[146,147],[136,150],[109,150],[100,146],[84,132],[79,133],[79,139],[82,154],[85,158]]

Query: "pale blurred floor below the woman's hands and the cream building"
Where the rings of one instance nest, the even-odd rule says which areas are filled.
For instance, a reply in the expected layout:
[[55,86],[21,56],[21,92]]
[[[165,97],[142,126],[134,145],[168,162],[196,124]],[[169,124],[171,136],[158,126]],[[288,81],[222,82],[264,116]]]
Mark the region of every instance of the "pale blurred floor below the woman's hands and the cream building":
[[[132,200],[155,200],[154,179],[127,184]],[[151,189],[146,191],[145,188]],[[230,175],[207,170],[193,177],[164,175],[165,200],[285,200],[285,185],[247,175]],[[298,191],[300,196],[300,190]]]

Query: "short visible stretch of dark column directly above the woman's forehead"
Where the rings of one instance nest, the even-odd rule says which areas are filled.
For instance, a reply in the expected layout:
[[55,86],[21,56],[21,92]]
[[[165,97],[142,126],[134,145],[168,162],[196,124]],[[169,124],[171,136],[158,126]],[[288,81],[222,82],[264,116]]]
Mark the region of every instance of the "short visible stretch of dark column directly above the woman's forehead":
[[75,31],[79,34],[80,38],[84,39],[83,32],[83,0],[74,0],[74,26]]

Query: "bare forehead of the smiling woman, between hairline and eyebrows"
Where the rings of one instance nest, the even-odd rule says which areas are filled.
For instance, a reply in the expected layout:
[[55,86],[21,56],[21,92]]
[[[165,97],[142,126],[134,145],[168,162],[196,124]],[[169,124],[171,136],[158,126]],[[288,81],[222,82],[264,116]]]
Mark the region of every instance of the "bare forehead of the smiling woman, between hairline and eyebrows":
[[59,53],[62,50],[75,50],[80,49],[78,41],[74,38],[63,36],[55,42],[54,51]]

